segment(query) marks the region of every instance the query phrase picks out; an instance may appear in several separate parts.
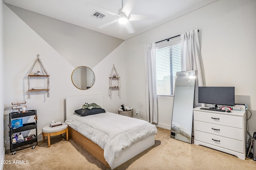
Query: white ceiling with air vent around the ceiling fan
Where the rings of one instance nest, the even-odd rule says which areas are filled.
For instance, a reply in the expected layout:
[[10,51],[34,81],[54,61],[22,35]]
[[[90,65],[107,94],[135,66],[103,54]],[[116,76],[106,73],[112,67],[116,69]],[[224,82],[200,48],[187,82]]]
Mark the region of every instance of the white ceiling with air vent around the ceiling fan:
[[[216,0],[124,0],[128,23],[117,22],[122,0],[4,0],[32,12],[92,29],[119,39],[129,39]],[[93,18],[95,12],[104,14]]]

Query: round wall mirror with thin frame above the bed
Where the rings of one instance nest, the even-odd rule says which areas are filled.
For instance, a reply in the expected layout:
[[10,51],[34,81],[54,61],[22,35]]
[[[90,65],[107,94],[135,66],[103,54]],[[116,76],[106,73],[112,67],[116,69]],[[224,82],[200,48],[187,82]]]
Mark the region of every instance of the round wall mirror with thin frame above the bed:
[[95,81],[94,72],[86,66],[79,66],[74,69],[71,76],[72,83],[80,90],[91,88]]

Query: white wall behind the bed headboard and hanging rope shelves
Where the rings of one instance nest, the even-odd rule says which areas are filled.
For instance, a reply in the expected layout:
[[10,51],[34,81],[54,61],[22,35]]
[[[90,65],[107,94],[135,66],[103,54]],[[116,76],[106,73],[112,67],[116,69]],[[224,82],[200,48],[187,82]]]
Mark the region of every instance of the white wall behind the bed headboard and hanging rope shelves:
[[[48,26],[50,27],[50,25]],[[75,37],[72,38],[75,39]],[[98,38],[102,39],[104,36]],[[87,43],[90,43],[90,40]],[[75,67],[6,5],[4,5],[4,46],[4,65],[6,67],[4,69],[5,78],[3,78],[4,81],[2,82],[5,83],[4,139],[6,149],[9,149],[9,129],[7,124],[9,121],[8,114],[12,111],[12,102],[25,100],[28,110],[37,110],[39,141],[42,140],[42,127],[48,125],[52,120],[64,121],[64,99],[66,96],[103,94],[104,109],[114,113],[118,113],[119,106],[126,103],[124,44],[118,46],[92,68],[95,74],[95,83],[88,90],[79,90],[72,84],[71,74]],[[37,54],[40,54],[40,59],[48,74],[50,74],[50,98],[47,98],[46,92],[44,91],[31,92],[31,98],[28,99],[27,74],[36,60]],[[79,58],[74,56],[73,60],[79,61]],[[86,66],[86,63],[80,62],[80,64]],[[110,99],[108,96],[108,77],[113,64],[115,64],[121,76],[121,98],[113,92],[112,99]],[[37,70],[34,71],[36,72]],[[82,104],[81,102],[81,106]]]

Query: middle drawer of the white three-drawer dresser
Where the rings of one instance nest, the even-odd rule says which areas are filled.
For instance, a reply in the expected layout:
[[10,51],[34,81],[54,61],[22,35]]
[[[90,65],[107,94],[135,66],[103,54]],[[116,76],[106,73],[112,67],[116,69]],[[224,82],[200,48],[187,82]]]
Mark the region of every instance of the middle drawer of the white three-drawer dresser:
[[194,130],[211,133],[213,135],[220,135],[236,140],[244,140],[244,131],[240,128],[217,125],[213,123],[206,123],[202,121],[194,121]]

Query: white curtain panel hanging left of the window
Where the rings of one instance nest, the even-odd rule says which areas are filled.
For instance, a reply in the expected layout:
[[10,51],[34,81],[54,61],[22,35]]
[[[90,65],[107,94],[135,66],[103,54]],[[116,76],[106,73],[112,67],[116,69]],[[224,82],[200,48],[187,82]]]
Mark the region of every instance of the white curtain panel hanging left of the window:
[[145,45],[146,120],[158,123],[156,96],[156,43]]

